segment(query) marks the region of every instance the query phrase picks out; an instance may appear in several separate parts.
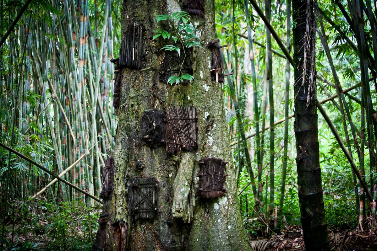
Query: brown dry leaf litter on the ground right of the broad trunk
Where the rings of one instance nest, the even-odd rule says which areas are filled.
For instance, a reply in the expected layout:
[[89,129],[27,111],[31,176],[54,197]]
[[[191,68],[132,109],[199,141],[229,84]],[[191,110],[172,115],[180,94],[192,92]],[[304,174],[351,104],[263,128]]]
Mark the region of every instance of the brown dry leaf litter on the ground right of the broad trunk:
[[[328,229],[332,251],[375,251],[377,250],[377,230],[346,230],[343,232]],[[301,226],[288,227],[281,234],[270,239],[251,240],[255,251],[305,251]]]

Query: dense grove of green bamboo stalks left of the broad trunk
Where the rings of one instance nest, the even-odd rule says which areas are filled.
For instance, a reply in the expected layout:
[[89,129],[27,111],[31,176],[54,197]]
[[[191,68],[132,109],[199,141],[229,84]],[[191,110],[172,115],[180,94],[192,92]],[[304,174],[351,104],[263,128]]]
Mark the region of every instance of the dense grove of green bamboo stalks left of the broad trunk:
[[[10,23],[12,7],[2,3],[2,8],[8,8],[2,22]],[[119,16],[113,8],[120,3],[32,2],[1,49],[1,141],[97,198],[116,128],[110,59],[119,39],[113,20]],[[8,27],[2,27],[4,34]],[[92,198],[56,179],[50,183],[47,173],[1,151],[5,201],[46,191],[52,200],[94,205]]]

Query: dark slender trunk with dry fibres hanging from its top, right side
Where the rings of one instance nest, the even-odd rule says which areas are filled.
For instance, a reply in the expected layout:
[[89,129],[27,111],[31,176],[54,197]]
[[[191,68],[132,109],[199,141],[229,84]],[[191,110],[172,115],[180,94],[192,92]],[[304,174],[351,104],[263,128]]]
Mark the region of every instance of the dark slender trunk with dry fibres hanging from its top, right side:
[[314,77],[316,15],[313,5],[313,0],[292,1],[293,21],[296,22],[292,31],[297,185],[301,224],[307,251],[329,250],[319,165],[316,79]]

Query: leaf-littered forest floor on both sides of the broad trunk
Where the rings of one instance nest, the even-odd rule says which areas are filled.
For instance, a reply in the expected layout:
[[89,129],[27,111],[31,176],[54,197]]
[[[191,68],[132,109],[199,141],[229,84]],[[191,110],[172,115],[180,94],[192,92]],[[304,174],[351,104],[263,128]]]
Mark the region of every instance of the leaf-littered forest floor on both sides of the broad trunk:
[[[90,250],[98,228],[97,219],[101,208],[86,208],[80,203],[60,203],[57,206],[44,200],[38,202],[37,206],[23,207],[14,213],[14,225],[13,221],[10,221],[5,227],[7,247],[0,248],[0,251],[28,245],[31,248],[19,250]],[[328,229],[331,250],[377,250],[377,228],[375,231],[370,231],[370,219],[367,221],[369,224],[365,224],[363,231],[359,228]],[[32,248],[33,245],[37,246]],[[299,225],[286,225],[279,234],[272,235],[269,239],[263,237],[251,239],[251,245],[255,251],[305,250],[302,228]]]

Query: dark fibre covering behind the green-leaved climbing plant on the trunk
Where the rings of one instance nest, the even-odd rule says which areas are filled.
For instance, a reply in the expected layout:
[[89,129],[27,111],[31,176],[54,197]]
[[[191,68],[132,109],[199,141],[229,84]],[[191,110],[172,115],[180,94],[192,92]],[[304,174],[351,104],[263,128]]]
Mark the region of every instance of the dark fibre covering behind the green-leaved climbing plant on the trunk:
[[[190,55],[191,49],[185,49],[186,57],[184,57],[183,49],[181,49],[181,55],[178,55],[176,51],[165,51],[164,58],[162,59],[161,63],[161,74],[160,74],[160,81],[167,83],[170,76],[178,77],[178,75],[182,76],[185,74],[193,74]],[[183,60],[184,58],[184,60]],[[182,65],[182,61],[183,65]],[[182,68],[181,68],[182,67]],[[181,71],[181,74],[179,74]],[[183,84],[189,84],[190,81],[185,79]]]

